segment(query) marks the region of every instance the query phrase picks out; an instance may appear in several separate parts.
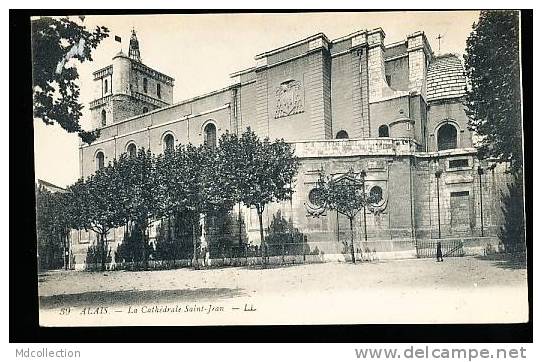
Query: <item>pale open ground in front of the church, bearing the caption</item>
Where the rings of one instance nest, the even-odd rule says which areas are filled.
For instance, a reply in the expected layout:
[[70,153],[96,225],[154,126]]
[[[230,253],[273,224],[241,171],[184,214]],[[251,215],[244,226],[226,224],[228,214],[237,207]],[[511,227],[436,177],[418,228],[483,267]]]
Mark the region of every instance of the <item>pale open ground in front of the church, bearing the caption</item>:
[[522,265],[475,257],[54,271],[39,276],[40,318],[44,325],[519,322],[527,318],[526,278]]

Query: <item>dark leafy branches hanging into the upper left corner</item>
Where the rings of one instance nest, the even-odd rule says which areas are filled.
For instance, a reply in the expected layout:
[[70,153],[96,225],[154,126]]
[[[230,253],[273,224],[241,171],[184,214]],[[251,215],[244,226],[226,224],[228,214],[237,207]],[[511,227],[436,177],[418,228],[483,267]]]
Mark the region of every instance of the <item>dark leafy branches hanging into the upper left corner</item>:
[[67,17],[40,17],[32,20],[31,29],[34,117],[78,132],[84,142],[91,143],[98,132],[84,131],[79,124],[83,109],[76,83],[79,73],[71,60],[92,61],[92,50],[109,36],[109,30],[97,26],[88,31]]

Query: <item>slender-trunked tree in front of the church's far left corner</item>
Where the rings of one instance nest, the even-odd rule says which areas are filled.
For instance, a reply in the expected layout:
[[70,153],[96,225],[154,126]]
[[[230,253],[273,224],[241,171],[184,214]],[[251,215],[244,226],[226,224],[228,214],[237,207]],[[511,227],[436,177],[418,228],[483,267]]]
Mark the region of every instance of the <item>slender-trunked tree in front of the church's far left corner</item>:
[[117,160],[87,179],[80,179],[70,187],[72,218],[76,228],[92,230],[98,235],[102,271],[107,259],[107,234],[125,223],[127,218],[123,200],[123,175]]

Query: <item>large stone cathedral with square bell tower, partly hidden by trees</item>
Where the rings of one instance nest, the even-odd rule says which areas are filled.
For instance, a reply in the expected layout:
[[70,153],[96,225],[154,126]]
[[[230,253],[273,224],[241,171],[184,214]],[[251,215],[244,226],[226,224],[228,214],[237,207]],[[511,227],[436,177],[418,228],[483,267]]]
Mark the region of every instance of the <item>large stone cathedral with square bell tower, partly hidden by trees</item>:
[[[476,157],[458,56],[435,56],[423,32],[385,44],[377,28],[335,40],[316,34],[255,60],[231,74],[230,86],[173,103],[174,79],[141,62],[132,33],[128,55],[120,52],[94,72],[90,110],[101,133],[80,145],[81,176],[139,147],[161,153],[178,144],[213,144],[226,131],[251,127],[291,143],[301,160],[293,200],[270,205],[264,226],[280,210],[327,259],[348,258],[350,229],[335,212],[309,212],[317,208],[310,193],[320,169],[363,170],[366,190],[380,195],[355,221],[357,248],[403,258],[438,238],[472,250],[496,243],[507,176]],[[249,241],[258,244],[255,210],[241,211]],[[111,233],[113,248],[122,237]],[[74,235],[76,263],[94,240],[87,232]]]

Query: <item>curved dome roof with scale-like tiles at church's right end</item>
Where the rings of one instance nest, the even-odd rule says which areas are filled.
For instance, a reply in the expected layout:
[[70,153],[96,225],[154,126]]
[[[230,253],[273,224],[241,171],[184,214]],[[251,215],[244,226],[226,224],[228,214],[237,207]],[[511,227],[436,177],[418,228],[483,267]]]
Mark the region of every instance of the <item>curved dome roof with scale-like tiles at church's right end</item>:
[[436,57],[427,70],[427,100],[462,97],[466,84],[465,70],[457,55]]

